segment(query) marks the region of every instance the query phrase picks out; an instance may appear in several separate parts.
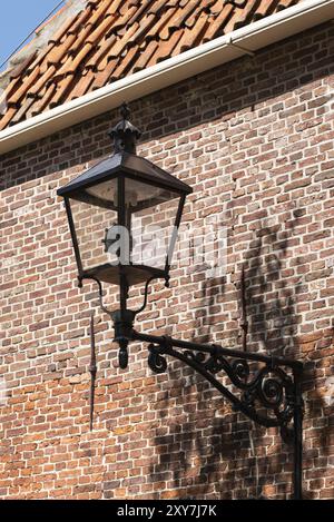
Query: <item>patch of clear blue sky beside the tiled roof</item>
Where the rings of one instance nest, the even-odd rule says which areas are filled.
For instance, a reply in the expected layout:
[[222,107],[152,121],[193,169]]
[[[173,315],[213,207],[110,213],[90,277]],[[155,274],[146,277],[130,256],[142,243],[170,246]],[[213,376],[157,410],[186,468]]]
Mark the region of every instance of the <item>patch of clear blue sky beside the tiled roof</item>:
[[0,8],[0,66],[60,2],[60,0],[6,0]]

